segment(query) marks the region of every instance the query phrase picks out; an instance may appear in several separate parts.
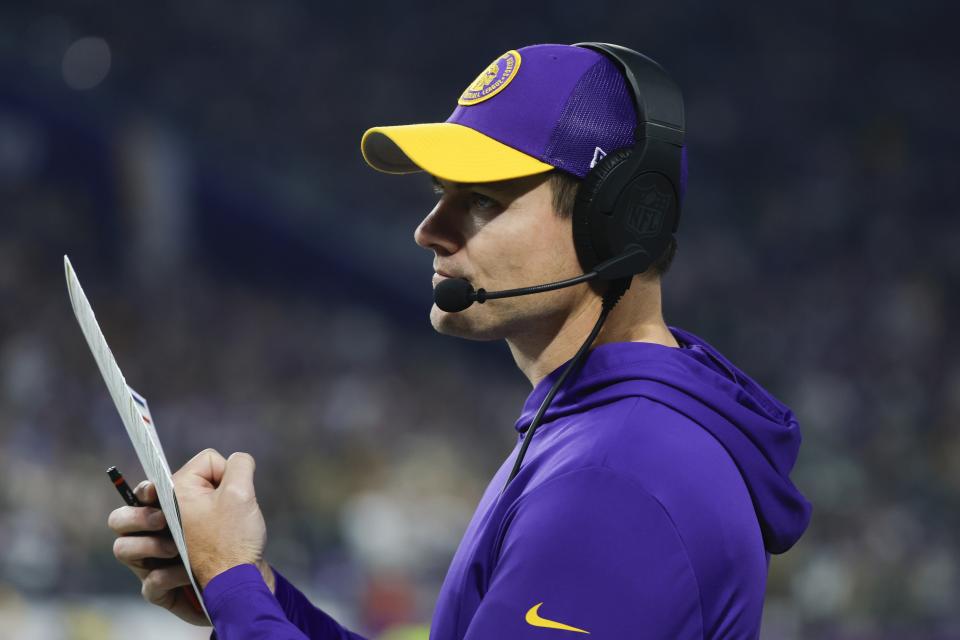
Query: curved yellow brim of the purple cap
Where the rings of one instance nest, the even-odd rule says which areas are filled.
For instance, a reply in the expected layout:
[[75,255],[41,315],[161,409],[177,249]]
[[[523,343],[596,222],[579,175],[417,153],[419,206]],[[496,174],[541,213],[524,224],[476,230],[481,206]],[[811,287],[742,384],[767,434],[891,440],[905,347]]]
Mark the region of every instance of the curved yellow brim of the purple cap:
[[378,171],[426,171],[451,182],[496,182],[553,169],[470,127],[450,122],[374,127],[363,134],[360,151]]

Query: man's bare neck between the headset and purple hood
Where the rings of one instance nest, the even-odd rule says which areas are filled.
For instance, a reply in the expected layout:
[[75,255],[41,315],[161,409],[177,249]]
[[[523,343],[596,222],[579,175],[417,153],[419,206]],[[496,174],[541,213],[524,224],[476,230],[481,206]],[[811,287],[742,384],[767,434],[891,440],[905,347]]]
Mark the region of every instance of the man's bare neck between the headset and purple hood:
[[[590,296],[560,324],[544,333],[511,336],[507,345],[517,367],[536,386],[557,367],[576,355],[600,316],[601,299]],[[679,347],[660,309],[659,281],[635,279],[607,316],[593,346],[608,342],[653,342]]]

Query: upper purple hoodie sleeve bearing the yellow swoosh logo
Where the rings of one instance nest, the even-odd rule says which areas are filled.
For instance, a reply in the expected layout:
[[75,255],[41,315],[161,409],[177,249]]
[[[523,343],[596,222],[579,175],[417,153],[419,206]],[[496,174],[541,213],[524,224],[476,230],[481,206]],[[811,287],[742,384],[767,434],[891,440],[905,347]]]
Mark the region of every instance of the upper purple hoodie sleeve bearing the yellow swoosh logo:
[[703,638],[699,588],[669,514],[606,467],[558,476],[518,500],[494,560],[464,640],[541,638],[542,628]]

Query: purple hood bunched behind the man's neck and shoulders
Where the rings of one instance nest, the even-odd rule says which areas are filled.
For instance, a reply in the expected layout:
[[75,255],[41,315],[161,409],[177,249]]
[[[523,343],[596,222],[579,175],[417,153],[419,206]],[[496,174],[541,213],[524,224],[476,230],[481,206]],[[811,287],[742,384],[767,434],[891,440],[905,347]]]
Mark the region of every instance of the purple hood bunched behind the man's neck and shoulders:
[[[789,407],[707,342],[688,331],[668,328],[679,349],[650,342],[615,342],[591,350],[554,397],[538,431],[563,416],[624,398],[643,396],[668,405],[724,447],[750,492],[764,546],[770,553],[783,553],[806,530],[812,511],[790,480],[800,449],[800,424]],[[565,366],[533,389],[515,425],[517,431],[530,427]]]

